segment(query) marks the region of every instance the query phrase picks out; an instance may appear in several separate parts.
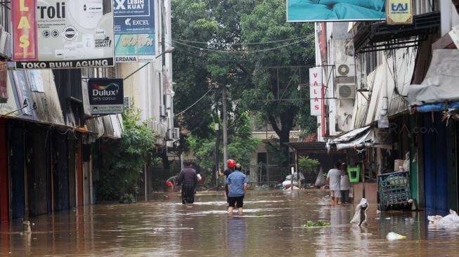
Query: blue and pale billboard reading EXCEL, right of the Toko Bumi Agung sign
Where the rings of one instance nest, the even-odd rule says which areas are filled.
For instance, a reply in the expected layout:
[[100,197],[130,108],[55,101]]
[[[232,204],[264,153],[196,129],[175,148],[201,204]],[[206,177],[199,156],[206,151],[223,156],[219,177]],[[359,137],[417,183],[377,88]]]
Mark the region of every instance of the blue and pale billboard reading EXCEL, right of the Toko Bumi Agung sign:
[[116,62],[155,60],[155,6],[153,0],[114,0]]

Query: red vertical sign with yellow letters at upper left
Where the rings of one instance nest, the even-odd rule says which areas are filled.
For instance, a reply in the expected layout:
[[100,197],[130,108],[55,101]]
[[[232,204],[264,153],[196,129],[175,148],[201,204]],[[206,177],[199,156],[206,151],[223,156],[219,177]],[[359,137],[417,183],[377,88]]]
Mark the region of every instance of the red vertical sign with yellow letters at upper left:
[[37,60],[35,0],[11,1],[13,13],[13,60]]

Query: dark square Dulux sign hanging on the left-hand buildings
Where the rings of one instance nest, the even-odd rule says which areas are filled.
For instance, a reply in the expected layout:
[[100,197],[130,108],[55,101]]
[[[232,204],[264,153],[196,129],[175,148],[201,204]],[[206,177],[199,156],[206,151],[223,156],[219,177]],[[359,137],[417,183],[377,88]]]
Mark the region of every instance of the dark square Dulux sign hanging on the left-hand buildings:
[[123,79],[89,79],[91,114],[117,114],[124,111]]

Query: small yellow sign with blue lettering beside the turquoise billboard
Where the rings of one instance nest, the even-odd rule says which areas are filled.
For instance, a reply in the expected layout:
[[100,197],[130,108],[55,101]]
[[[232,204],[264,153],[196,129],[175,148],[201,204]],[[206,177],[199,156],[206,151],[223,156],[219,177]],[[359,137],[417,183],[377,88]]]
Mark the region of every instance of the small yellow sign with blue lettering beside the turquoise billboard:
[[386,1],[387,24],[413,23],[413,5],[411,0]]

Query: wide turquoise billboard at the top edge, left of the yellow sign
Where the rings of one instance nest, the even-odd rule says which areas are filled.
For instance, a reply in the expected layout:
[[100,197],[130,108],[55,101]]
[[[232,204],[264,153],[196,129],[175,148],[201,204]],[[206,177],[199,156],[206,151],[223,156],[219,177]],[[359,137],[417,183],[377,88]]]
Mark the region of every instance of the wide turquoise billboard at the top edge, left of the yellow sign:
[[385,0],[287,0],[287,22],[385,20]]

